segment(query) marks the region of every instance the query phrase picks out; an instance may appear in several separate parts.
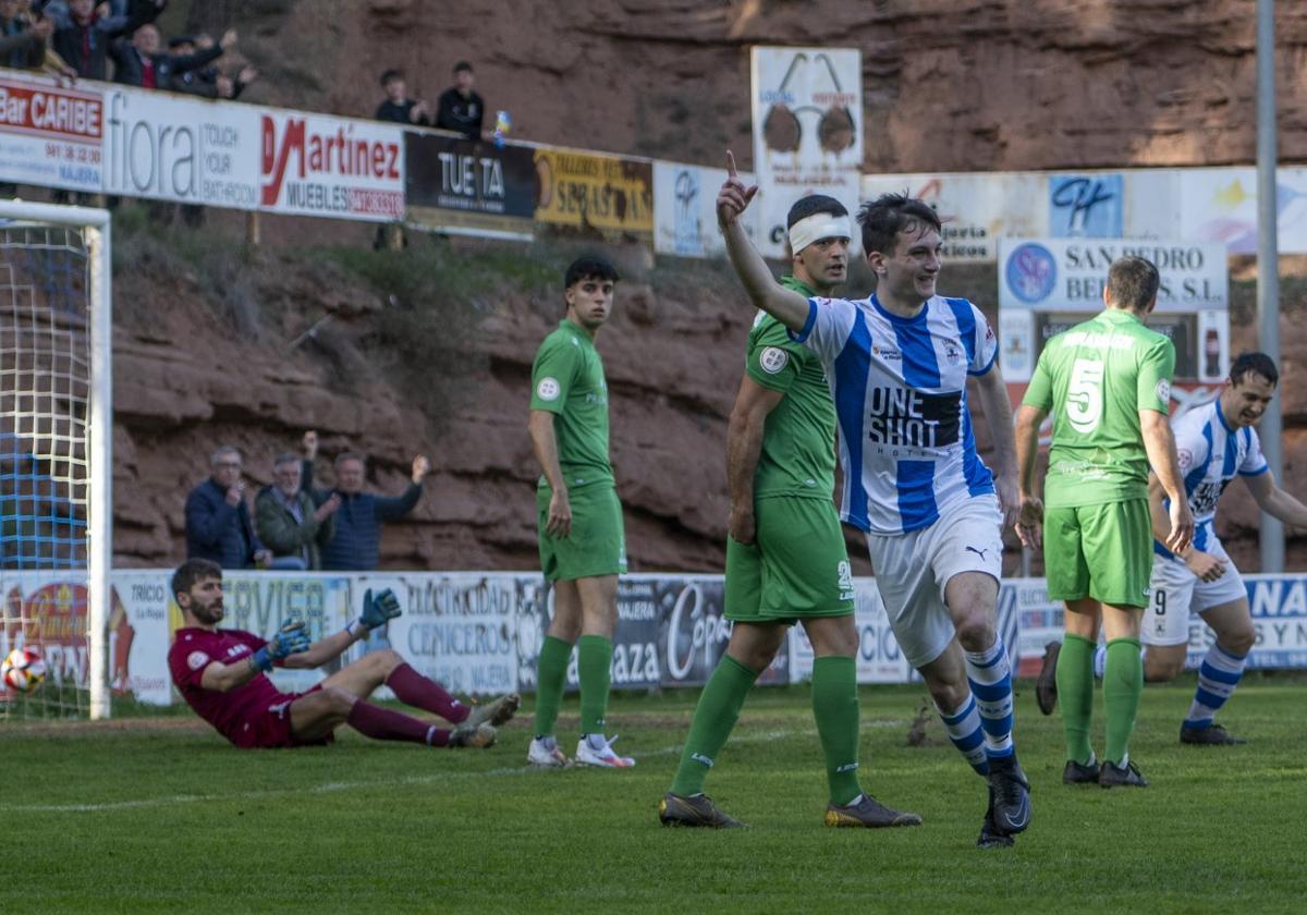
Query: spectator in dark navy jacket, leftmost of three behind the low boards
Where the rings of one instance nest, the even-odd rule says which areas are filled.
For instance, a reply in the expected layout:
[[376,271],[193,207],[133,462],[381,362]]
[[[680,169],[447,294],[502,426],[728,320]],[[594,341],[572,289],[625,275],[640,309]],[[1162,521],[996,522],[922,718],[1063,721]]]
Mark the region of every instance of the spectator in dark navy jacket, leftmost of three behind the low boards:
[[225,444],[209,467],[212,476],[186,498],[186,558],[210,559],[223,569],[267,569],[272,553],[250,523],[240,452]]

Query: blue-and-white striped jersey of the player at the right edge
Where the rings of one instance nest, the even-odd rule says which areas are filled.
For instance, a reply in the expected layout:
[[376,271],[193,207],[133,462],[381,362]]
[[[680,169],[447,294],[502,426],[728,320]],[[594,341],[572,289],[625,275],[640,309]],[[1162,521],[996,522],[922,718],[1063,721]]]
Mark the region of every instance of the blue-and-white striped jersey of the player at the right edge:
[[[1171,431],[1193,512],[1193,548],[1206,550],[1217,539],[1212,522],[1225,488],[1236,476],[1255,477],[1270,468],[1261,455],[1257,431],[1251,426],[1235,429],[1226,422],[1219,397],[1176,417]],[[1153,552],[1171,556],[1155,540]]]

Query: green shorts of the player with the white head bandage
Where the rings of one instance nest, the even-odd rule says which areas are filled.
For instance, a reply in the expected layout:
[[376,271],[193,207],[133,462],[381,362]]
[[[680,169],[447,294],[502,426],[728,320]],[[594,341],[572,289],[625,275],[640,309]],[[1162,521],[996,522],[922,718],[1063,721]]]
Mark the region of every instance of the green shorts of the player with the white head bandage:
[[752,544],[727,537],[727,620],[795,622],[853,612],[853,570],[826,499],[772,495],[754,507]]

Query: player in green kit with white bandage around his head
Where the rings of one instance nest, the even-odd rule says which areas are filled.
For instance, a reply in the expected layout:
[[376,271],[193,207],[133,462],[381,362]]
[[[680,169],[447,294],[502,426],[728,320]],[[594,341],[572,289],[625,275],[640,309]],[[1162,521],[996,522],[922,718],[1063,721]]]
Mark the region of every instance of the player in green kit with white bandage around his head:
[[[780,285],[804,298],[829,297],[848,273],[852,221],[834,197],[812,195],[789,209],[793,274]],[[912,826],[857,782],[857,627],[835,489],[835,407],[821,359],[759,311],[749,332],[745,375],[727,431],[731,515],[725,616],[727,654],[708,680],[672,791],[659,805],[664,825],[740,824],[703,793],[758,674],[801,620],[813,643],[813,714],[826,754],[827,826]]]

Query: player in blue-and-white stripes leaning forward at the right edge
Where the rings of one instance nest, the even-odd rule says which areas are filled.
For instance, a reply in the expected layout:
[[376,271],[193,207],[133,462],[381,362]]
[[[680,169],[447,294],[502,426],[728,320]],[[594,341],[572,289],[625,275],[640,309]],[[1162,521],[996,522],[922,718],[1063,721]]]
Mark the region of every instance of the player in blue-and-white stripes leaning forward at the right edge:
[[1163,489],[1149,480],[1153,508],[1153,600],[1144,610],[1144,680],[1166,682],[1184,669],[1189,613],[1212,626],[1217,640],[1199,667],[1199,689],[1180,725],[1182,744],[1242,744],[1214,723],[1217,711],[1239,685],[1256,631],[1248,612],[1248,592],[1217,537],[1213,520],[1221,493],[1235,477],[1268,515],[1285,524],[1307,527],[1307,506],[1276,485],[1261,456],[1256,425],[1276,395],[1280,373],[1265,353],[1244,353],[1230,367],[1230,378],[1210,404],[1196,407],[1171,424],[1184,474],[1184,491],[1193,512],[1193,542],[1171,552]]

